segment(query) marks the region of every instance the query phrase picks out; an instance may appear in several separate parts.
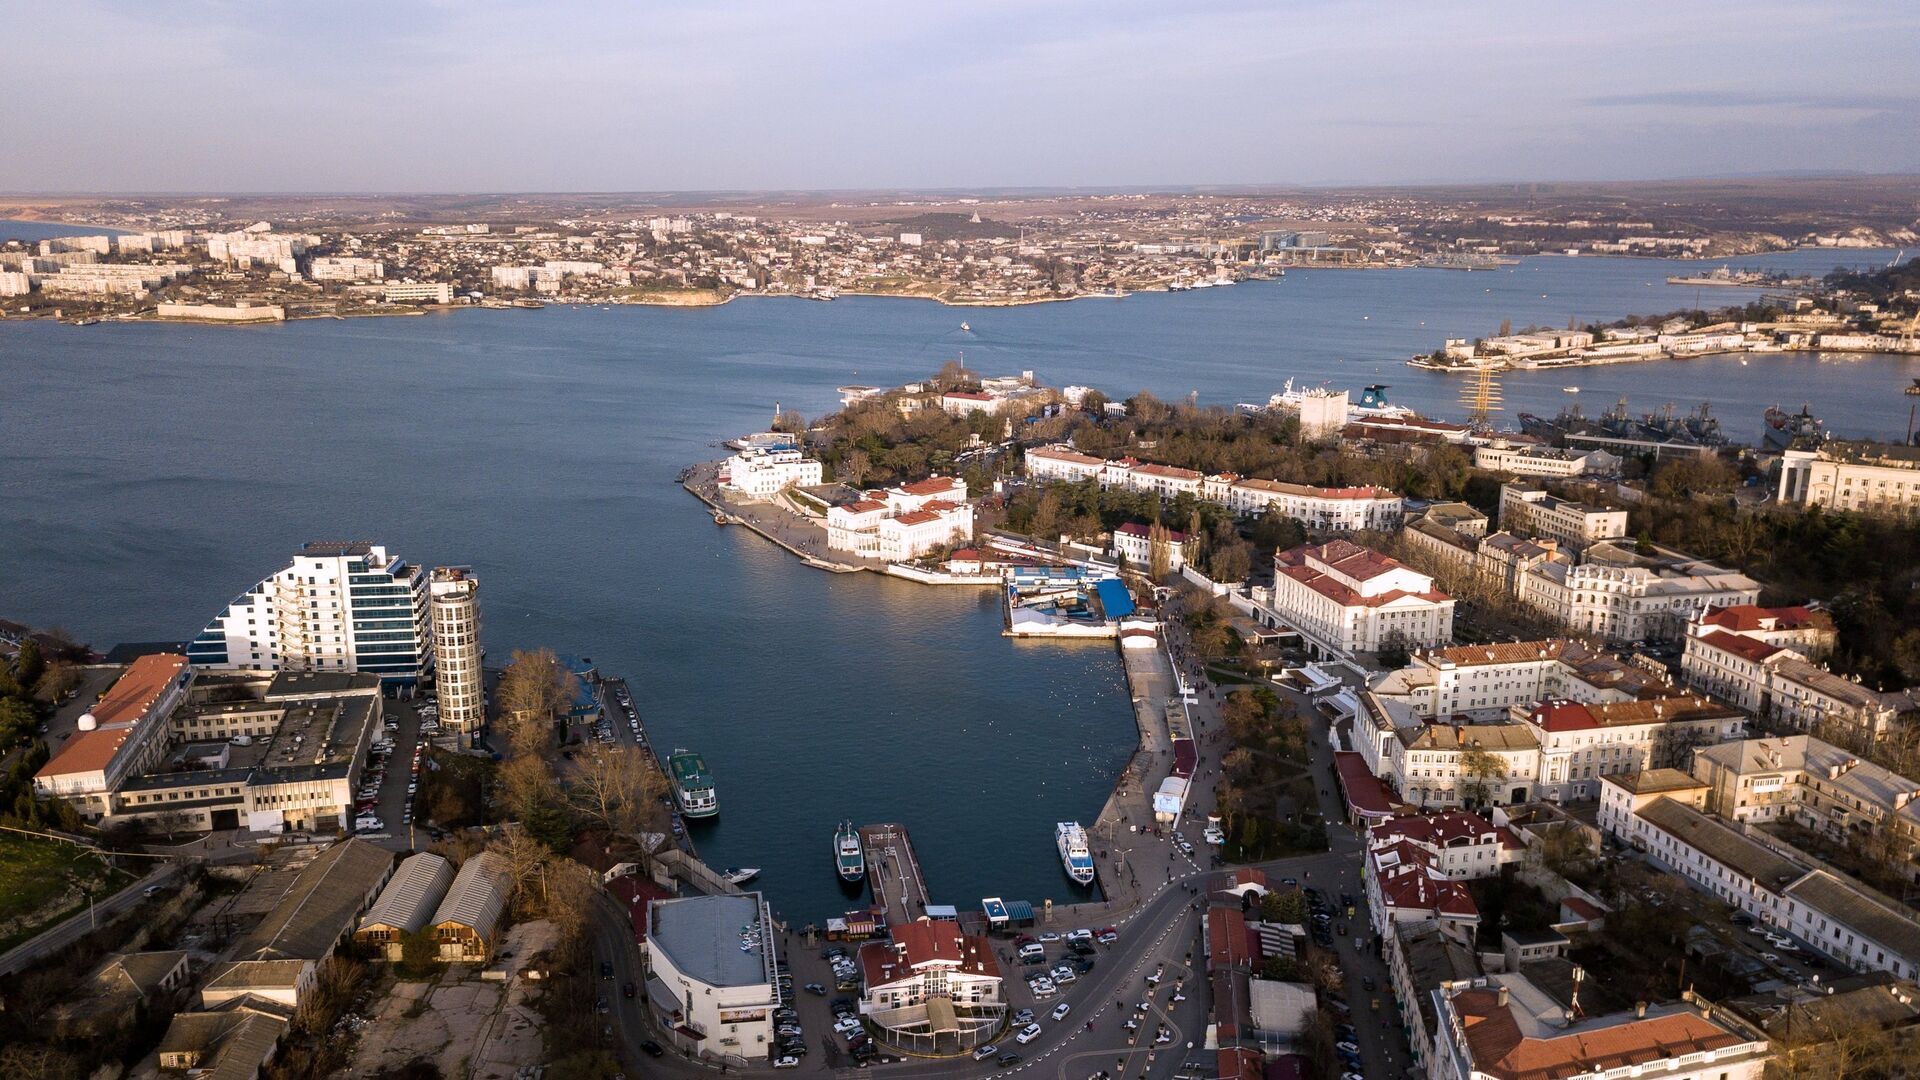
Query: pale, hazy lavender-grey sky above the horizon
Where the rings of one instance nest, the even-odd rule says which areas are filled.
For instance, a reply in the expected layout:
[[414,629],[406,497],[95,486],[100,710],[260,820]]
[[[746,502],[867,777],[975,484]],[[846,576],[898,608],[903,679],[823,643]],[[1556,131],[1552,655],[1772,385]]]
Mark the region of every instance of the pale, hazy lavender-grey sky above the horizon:
[[0,192],[1920,171],[1920,4],[19,0]]

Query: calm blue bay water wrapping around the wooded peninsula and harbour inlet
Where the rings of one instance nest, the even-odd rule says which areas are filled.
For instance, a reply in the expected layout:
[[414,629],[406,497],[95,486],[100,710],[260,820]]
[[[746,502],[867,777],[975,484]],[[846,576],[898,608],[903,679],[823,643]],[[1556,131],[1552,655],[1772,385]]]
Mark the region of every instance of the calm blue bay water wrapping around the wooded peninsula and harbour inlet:
[[[849,298],[271,329],[0,323],[0,615],[96,644],[186,638],[301,540],[470,563],[495,659],[536,644],[591,655],[630,676],[660,744],[705,751],[722,817],[703,853],[764,867],[783,913],[845,907],[828,851],[845,817],[906,822],[939,899],[1068,899],[1052,822],[1092,819],[1133,742],[1112,650],[1008,642],[981,594],[808,571],[716,528],[674,475],[776,402],[820,415],[841,382],[899,382],[962,350],[991,373],[1210,402],[1265,400],[1288,377],[1379,379],[1452,415],[1457,382],[1405,356],[1503,317],[1692,304],[1667,273],[1548,258],[1016,309]],[[1803,400],[1847,434],[1899,434],[1914,375],[1920,359],[1757,357],[1505,386],[1513,411],[1557,411],[1576,380],[1594,407],[1713,400],[1749,438],[1761,409]]]

